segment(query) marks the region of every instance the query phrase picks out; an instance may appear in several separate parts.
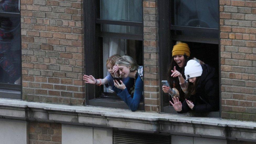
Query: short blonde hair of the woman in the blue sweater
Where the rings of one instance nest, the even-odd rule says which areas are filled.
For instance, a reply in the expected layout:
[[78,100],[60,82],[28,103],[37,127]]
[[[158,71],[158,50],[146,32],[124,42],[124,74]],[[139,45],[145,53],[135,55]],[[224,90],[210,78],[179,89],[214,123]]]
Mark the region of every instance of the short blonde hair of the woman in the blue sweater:
[[116,65],[122,65],[122,66],[126,66],[126,67],[129,67],[131,66],[130,68],[130,71],[133,72],[135,70],[138,69],[138,65],[136,63],[136,61],[134,61],[132,59],[132,57],[130,56],[122,56],[120,57],[117,61],[116,61]]

